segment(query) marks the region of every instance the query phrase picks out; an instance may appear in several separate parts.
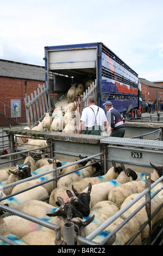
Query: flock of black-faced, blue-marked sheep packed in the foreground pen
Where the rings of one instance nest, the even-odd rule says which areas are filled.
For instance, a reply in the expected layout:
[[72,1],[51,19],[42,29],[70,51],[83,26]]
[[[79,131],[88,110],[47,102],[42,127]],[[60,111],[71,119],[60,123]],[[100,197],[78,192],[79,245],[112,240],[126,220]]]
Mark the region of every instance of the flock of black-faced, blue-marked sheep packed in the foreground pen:
[[[57,188],[53,187],[53,181],[51,180],[53,179],[53,173],[43,174],[41,178],[28,180],[4,189],[3,192],[0,191],[2,198],[49,180],[43,185],[2,200],[1,204],[59,225],[61,236],[63,236],[63,225],[67,221],[75,224],[77,234],[88,236],[145,190],[145,174],[136,173],[130,168],[126,169],[122,163],[121,166],[116,166],[116,163],[112,161],[112,167],[105,175],[92,177],[93,173],[101,170],[101,165],[94,160],[90,160],[89,157],[79,156],[79,158],[80,160],[77,163],[70,166],[68,163],[65,165],[65,162],[57,161],[57,176],[61,175],[57,180]],[[151,180],[156,181],[163,175],[163,167],[154,166],[152,163],[151,166],[154,168]],[[17,180],[26,179],[52,169],[52,160],[41,159],[35,162],[31,156],[28,156],[24,160],[24,164],[17,166],[15,170],[1,170],[0,186],[4,187]],[[77,171],[73,172],[74,170]],[[62,176],[62,174],[66,175]],[[162,182],[156,185],[151,193],[158,190],[160,186],[162,186]],[[45,202],[40,201],[43,198],[48,199]],[[143,202],[145,202],[145,197],[118,217],[93,241],[101,242]],[[152,199],[152,214],[162,202],[163,199],[158,193]],[[54,230],[15,215],[8,216],[8,212],[0,211],[0,215],[0,235],[9,237],[21,245],[55,245]],[[152,225],[158,223],[162,216],[163,209],[155,215]],[[147,220],[148,215],[144,206],[106,244],[125,245]],[[141,245],[143,239],[148,235],[149,225],[146,225],[132,244]],[[0,245],[5,244],[3,241],[0,242]]]

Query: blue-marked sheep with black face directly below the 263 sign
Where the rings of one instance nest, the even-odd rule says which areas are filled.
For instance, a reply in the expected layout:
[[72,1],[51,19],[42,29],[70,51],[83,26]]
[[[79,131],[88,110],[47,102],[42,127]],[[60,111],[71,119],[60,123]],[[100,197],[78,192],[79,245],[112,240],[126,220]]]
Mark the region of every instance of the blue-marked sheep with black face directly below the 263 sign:
[[[91,202],[90,202],[90,209],[98,203],[99,201],[108,200],[108,195],[112,188],[124,184],[126,182],[136,180],[137,175],[131,169],[123,170],[116,180],[110,180],[107,182],[102,182],[99,184],[95,184],[92,186],[92,193],[91,193]],[[85,192],[87,188],[83,192]]]

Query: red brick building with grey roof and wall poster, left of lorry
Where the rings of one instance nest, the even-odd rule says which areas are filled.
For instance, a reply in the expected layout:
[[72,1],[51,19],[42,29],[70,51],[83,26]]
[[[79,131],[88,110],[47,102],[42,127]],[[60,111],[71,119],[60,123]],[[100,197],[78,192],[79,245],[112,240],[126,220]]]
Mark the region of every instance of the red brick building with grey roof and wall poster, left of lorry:
[[0,126],[15,125],[16,115],[18,123],[26,123],[24,98],[43,84],[45,67],[0,59]]

